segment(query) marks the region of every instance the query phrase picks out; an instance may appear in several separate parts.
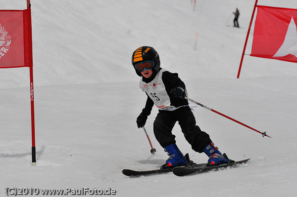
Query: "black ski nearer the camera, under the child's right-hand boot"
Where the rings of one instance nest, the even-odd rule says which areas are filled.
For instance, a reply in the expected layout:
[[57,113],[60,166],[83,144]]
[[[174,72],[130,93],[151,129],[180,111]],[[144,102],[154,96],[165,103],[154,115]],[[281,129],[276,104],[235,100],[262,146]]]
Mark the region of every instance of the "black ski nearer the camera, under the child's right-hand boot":
[[227,167],[233,168],[239,166],[239,164],[247,163],[248,159],[240,160],[240,161],[233,161],[230,160],[227,163],[221,164],[221,165],[214,165],[214,166],[189,166],[189,167],[175,167],[173,168],[172,172],[176,176],[187,176],[187,175],[194,175],[194,174],[200,174],[203,172],[208,171],[217,171],[222,170]]

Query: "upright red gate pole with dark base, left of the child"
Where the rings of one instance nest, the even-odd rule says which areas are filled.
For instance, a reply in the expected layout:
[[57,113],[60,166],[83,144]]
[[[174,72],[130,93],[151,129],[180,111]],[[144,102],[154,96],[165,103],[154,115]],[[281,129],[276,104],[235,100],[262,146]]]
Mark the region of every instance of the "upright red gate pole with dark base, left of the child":
[[[32,54],[32,23],[31,23],[31,3],[27,0],[28,15],[28,52]],[[32,165],[36,165],[36,148],[35,148],[35,120],[34,120],[34,86],[33,86],[33,57],[29,57],[30,62],[30,99],[31,99],[31,129],[32,129]]]

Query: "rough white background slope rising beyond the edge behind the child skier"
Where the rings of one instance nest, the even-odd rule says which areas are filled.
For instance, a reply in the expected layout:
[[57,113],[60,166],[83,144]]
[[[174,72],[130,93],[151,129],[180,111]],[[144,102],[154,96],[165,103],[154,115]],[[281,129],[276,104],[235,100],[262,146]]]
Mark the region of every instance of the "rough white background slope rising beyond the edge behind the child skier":
[[[1,0],[0,8],[25,9],[25,2]],[[36,85],[137,81],[131,72],[131,51],[141,45],[154,46],[162,54],[162,65],[183,78],[234,79],[254,6],[246,0],[197,0],[195,11],[191,0],[31,0],[31,4]],[[297,8],[294,0],[258,4]],[[240,29],[226,26],[232,25],[236,7],[241,12]],[[1,72],[0,87],[29,83],[26,68]],[[246,56],[241,77],[296,72],[294,63]]]

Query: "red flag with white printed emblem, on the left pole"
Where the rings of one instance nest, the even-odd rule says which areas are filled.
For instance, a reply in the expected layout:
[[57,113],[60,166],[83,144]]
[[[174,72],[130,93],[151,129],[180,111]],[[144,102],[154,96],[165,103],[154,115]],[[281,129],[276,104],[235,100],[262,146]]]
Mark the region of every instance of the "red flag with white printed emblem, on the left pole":
[[31,10],[0,10],[0,68],[32,67]]

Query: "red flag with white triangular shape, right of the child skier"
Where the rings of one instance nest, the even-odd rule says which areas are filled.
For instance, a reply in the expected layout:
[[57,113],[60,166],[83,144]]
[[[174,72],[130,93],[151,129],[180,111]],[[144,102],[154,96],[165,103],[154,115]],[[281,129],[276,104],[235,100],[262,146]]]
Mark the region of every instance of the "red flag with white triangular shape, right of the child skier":
[[250,56],[297,62],[297,9],[257,7]]

